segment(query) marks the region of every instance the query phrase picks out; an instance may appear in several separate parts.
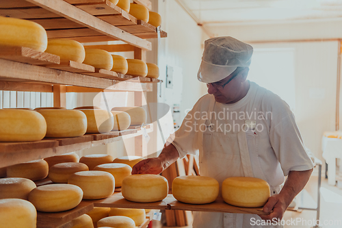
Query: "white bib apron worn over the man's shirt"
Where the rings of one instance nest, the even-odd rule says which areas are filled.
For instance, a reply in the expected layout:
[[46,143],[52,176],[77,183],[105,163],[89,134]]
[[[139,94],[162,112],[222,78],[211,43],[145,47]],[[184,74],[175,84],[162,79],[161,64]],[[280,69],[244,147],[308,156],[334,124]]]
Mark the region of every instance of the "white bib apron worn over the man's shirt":
[[[259,110],[260,100],[255,99],[252,110]],[[215,99],[211,99],[209,105],[209,114],[214,111]],[[251,117],[253,117],[252,115]],[[201,124],[205,124],[207,129],[201,131],[199,137],[202,145],[200,146],[200,175],[213,177],[220,183],[220,191],[222,182],[228,177],[257,177],[266,180],[259,161],[254,160],[254,156],[248,151],[250,148],[257,147],[256,135],[254,131],[239,131],[237,134],[224,134],[221,132],[209,131],[211,127],[212,117],[202,120]],[[257,121],[251,118],[249,121]],[[250,157],[253,162],[257,162],[252,168]],[[270,186],[271,194],[278,194],[281,190],[280,186]],[[261,228],[274,227],[280,228],[280,225],[258,226],[251,225],[253,221],[261,218],[254,214],[231,214],[220,212],[194,212],[194,228]],[[257,223],[252,223],[257,224]]]

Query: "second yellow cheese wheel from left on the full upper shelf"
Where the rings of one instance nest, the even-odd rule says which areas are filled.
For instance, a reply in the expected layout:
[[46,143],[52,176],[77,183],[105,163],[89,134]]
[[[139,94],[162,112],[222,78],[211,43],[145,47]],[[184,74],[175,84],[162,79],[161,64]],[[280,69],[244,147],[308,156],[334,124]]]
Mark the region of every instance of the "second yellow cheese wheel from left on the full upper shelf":
[[49,39],[45,52],[59,55],[61,60],[72,60],[80,63],[86,58],[83,45],[75,40]]

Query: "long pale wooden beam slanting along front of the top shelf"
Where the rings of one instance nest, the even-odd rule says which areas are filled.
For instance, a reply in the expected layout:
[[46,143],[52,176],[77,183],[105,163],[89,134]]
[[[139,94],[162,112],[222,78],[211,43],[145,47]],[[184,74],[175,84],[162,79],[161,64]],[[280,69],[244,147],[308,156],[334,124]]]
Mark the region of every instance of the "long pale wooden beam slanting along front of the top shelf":
[[105,21],[102,21],[100,18],[96,18],[95,16],[92,16],[88,14],[87,12],[84,12],[83,10],[76,8],[73,5],[70,5],[69,3],[66,3],[65,1],[62,1],[62,0],[55,0],[55,1],[27,0],[27,1],[29,1],[30,3],[39,5],[40,7],[47,9],[62,17],[68,18],[70,19],[70,21],[74,21],[81,25],[85,25],[86,27],[89,27],[90,29],[94,29],[95,31],[98,31],[99,33],[104,34],[106,36],[117,38],[118,40],[122,40],[124,42],[129,43],[130,45],[133,45],[135,47],[140,47],[145,50],[152,49],[151,43],[148,42],[147,40],[142,40],[140,38],[137,38],[136,36],[133,36],[127,33],[126,31],[123,31],[122,29],[109,25]]

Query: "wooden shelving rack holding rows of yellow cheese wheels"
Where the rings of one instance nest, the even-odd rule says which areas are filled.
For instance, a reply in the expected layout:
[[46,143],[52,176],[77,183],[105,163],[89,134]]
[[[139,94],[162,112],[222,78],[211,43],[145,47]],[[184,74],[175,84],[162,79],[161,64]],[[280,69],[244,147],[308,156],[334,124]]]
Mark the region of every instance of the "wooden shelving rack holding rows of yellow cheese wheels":
[[[148,0],[134,0],[151,10]],[[108,0],[11,0],[0,1],[0,16],[22,18],[39,23],[48,38],[68,38],[79,42],[120,40],[124,45],[95,45],[110,52],[133,51],[134,58],[146,62],[152,45],[146,38],[166,37],[165,31],[137,20]],[[55,107],[66,105],[66,92],[134,92],[135,105],[142,105],[146,92],[153,91],[159,79],[133,77],[97,69],[86,64],[61,62],[59,56],[27,47],[0,46],[0,90],[53,92]],[[153,125],[146,126],[153,131]],[[77,138],[46,138],[39,142],[1,142],[0,168],[57,154],[79,151],[101,144],[135,137],[142,147],[142,130],[131,127],[108,134],[86,134]],[[44,182],[44,183],[43,183]],[[43,180],[41,184],[51,183]],[[87,201],[61,213],[38,213],[37,227],[70,227],[70,220],[89,212],[94,204]],[[146,228],[148,216],[140,228]]]

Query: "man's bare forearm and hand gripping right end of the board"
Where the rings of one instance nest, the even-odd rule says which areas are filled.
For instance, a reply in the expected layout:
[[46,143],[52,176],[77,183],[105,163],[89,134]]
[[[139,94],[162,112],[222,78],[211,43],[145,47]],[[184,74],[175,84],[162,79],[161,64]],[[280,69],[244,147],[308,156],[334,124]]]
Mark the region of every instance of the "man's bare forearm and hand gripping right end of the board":
[[267,203],[263,206],[264,212],[268,213],[272,210],[273,212],[267,216],[260,217],[263,220],[281,219],[295,196],[305,187],[312,172],[313,168],[304,171],[290,171],[280,193],[269,197]]

